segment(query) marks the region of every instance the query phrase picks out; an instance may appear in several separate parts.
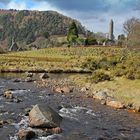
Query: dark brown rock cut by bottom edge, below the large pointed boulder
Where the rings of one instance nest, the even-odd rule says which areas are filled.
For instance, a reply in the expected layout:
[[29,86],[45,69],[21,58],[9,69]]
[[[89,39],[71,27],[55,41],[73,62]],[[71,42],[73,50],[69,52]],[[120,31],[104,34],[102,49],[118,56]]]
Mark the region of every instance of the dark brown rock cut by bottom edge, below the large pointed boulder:
[[17,136],[19,140],[31,140],[36,136],[36,134],[31,130],[19,130]]

